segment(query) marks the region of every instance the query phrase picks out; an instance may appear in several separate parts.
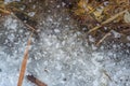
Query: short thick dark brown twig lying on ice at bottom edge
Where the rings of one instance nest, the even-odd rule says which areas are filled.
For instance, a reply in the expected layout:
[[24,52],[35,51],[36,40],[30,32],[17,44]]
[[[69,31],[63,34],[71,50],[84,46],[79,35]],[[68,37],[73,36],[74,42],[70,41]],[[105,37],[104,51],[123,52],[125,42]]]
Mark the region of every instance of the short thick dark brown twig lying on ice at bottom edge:
[[47,86],[47,84],[42,83],[38,78],[36,78],[34,75],[27,75],[27,80],[35,83],[37,86]]

